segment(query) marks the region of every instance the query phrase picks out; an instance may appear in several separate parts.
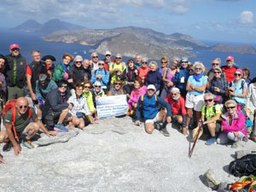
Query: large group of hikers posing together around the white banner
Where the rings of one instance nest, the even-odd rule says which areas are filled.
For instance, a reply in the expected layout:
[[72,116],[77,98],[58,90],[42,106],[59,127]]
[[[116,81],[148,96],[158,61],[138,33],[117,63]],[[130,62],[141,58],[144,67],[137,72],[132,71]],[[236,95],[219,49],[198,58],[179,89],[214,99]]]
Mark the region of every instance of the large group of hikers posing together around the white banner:
[[[163,56],[158,67],[142,55],[125,63],[110,51],[104,60],[96,52],[90,59],[66,53],[55,65],[53,55],[41,57],[34,49],[27,65],[19,44],[11,44],[9,51],[0,55],[3,151],[14,148],[18,155],[21,143],[33,148],[38,131],[54,137],[57,131],[97,124],[96,100],[119,95],[127,97],[126,115],[135,125],[144,121],[148,134],[158,129],[168,137],[166,125],[172,122],[183,135],[202,127],[207,145],[231,141],[236,148],[242,139],[256,142],[256,80],[249,79],[247,68],[234,66],[233,56],[223,67],[219,58],[213,59],[206,70],[187,57],[173,58],[169,65]],[[6,163],[1,154],[0,162]]]

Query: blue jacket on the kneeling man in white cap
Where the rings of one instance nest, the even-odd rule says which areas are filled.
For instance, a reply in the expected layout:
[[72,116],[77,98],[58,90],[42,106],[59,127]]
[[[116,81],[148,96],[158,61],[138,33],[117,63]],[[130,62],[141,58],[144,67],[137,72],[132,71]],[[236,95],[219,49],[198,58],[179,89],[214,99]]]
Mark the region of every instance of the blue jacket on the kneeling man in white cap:
[[[137,102],[137,109],[136,109],[136,118],[139,120],[141,118],[140,112],[140,105],[142,102],[142,96],[140,96]],[[155,96],[148,97],[147,94],[144,95],[143,98],[143,116],[145,120],[154,119],[156,114],[159,112],[157,108],[157,103],[155,103]],[[165,102],[160,96],[157,96],[157,102],[160,103],[164,108],[167,108],[167,117],[172,115],[171,106],[168,102]]]

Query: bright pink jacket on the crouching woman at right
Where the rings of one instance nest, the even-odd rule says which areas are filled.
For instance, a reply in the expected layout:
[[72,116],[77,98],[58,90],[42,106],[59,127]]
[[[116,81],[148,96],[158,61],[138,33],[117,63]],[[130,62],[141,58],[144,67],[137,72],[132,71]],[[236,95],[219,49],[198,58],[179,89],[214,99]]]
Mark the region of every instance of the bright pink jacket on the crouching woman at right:
[[224,126],[224,132],[241,131],[247,135],[246,117],[241,113],[241,108],[237,105],[236,113],[234,114],[232,125],[229,125],[229,113],[222,114],[221,125]]

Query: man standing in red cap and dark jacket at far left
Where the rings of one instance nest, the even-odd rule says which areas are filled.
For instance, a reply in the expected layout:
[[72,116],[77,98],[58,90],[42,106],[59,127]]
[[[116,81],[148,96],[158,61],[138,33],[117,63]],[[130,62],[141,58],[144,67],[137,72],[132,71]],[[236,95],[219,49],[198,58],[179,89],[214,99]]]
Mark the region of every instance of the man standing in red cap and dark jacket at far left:
[[9,46],[10,55],[6,55],[6,83],[8,85],[8,100],[25,96],[26,59],[20,55],[19,44]]

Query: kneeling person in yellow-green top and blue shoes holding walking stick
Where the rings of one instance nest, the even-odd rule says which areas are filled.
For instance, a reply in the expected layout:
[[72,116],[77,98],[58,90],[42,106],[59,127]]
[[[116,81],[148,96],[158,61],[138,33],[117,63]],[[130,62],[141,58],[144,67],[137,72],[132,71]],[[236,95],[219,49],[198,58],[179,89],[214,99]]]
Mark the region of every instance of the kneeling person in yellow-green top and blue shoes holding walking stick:
[[[222,108],[219,104],[214,103],[214,95],[206,93],[204,95],[205,104],[201,109],[201,122],[204,129],[210,132],[210,138],[206,145],[217,143],[218,132],[220,131]],[[199,126],[201,126],[199,122]]]

